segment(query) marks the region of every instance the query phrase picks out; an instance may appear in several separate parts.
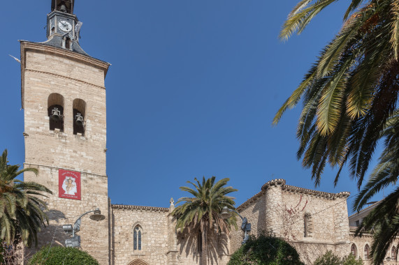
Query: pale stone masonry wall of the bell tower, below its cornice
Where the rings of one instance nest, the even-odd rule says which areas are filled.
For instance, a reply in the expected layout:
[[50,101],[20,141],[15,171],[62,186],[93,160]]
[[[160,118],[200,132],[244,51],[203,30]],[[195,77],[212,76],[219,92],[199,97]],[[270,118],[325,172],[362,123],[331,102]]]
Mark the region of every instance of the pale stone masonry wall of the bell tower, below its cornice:
[[[24,107],[24,167],[37,167],[38,176],[24,174],[50,190],[50,225],[39,235],[45,243],[64,245],[62,231],[87,211],[96,207],[106,216],[95,222],[82,218],[82,249],[100,264],[108,264],[108,179],[106,176],[106,90],[104,77],[108,63],[55,47],[21,43],[22,104]],[[50,130],[48,97],[64,97],[64,132]],[[85,100],[85,135],[73,135],[73,100]],[[59,198],[59,169],[81,173],[81,199]],[[33,253],[35,249],[27,250]]]

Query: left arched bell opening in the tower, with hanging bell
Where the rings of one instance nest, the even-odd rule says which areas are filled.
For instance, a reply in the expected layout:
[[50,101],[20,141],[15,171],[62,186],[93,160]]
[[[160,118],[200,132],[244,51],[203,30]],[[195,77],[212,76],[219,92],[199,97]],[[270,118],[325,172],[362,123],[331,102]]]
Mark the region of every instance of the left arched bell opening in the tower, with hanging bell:
[[48,96],[48,116],[50,130],[58,129],[64,132],[64,97],[59,93]]

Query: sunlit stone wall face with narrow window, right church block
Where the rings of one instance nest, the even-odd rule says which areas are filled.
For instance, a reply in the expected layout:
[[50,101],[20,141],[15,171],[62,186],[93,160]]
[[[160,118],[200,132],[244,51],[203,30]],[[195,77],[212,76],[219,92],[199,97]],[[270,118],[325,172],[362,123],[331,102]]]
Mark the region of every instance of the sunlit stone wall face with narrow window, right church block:
[[280,236],[296,247],[305,264],[312,264],[327,250],[340,256],[349,255],[348,251],[336,251],[336,248],[347,249],[349,245],[346,197],[333,199],[320,196],[322,193],[319,196],[317,193],[306,193],[283,191],[280,215],[283,217],[284,228]]

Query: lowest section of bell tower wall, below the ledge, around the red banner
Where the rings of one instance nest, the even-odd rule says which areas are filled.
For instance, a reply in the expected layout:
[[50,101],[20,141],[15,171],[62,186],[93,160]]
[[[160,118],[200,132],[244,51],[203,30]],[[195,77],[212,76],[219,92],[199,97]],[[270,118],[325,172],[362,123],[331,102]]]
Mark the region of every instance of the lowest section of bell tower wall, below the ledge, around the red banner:
[[[34,166],[32,166],[34,167]],[[53,195],[44,198],[48,204],[49,225],[38,234],[38,248],[27,249],[29,257],[34,254],[42,245],[65,245],[69,239],[62,230],[62,225],[73,225],[78,217],[87,211],[96,208],[106,215],[106,220],[96,222],[85,215],[82,218],[80,232],[82,250],[89,252],[100,264],[108,264],[108,179],[92,174],[81,174],[81,200],[64,199],[58,197],[58,169],[50,167],[36,167],[39,170],[38,176],[31,172],[24,174],[24,179],[36,181],[52,190]]]

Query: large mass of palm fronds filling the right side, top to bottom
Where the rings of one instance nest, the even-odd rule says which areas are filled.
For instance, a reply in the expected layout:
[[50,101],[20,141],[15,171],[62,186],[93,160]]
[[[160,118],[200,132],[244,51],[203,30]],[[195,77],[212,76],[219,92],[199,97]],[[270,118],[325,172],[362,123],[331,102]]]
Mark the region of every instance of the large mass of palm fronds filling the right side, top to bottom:
[[[284,23],[280,38],[302,32],[315,15],[335,1],[300,1]],[[273,120],[278,123],[286,109],[303,100],[297,128],[300,142],[297,156],[303,158],[303,167],[312,169],[315,185],[319,185],[327,164],[338,167],[336,184],[342,167],[348,163],[350,177],[358,180],[360,189],[377,143],[385,137],[386,150],[358,195],[356,210],[381,188],[396,185],[398,179],[399,170],[393,165],[399,159],[395,132],[399,123],[398,51],[399,1],[349,1],[342,29],[324,47]],[[381,227],[375,233],[371,251],[376,264],[382,262],[389,243],[398,234],[398,199],[397,189],[359,227]]]

